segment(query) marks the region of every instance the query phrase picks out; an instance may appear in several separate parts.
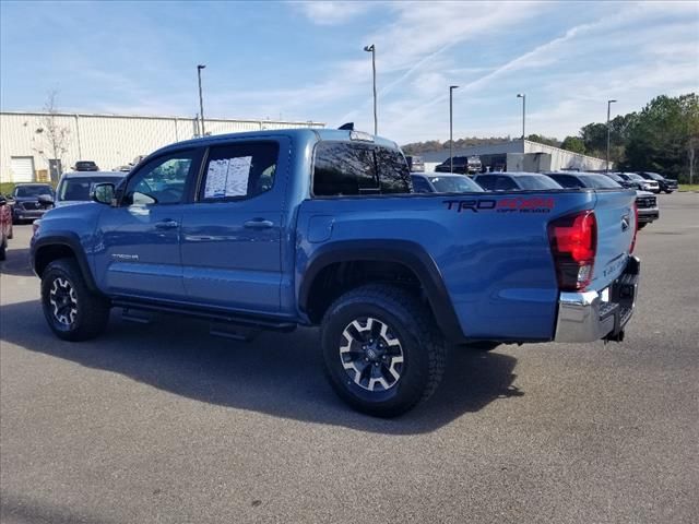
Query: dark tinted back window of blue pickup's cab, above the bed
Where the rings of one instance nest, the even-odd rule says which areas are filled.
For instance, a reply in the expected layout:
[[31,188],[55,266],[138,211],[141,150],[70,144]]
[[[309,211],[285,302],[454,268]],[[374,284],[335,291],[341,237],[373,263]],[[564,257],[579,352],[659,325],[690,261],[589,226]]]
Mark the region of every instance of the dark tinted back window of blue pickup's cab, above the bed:
[[316,196],[410,192],[410,170],[399,151],[347,142],[316,146]]

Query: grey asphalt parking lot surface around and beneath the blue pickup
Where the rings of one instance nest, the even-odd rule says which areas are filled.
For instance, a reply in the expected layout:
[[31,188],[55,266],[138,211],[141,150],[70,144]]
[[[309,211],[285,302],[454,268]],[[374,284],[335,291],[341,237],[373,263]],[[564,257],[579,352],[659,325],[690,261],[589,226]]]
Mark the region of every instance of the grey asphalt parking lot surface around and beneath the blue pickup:
[[317,333],[246,344],[114,312],[49,332],[31,226],[0,263],[3,523],[699,522],[699,194],[661,195],[621,344],[452,352],[394,420],[351,412]]

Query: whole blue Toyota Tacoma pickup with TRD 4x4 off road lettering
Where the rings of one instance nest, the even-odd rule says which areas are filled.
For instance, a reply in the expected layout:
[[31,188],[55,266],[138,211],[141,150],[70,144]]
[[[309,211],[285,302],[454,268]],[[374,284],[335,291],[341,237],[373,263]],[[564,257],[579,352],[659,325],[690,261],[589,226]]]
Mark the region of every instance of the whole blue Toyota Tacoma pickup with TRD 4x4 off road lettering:
[[388,140],[279,130],[173,144],[32,239],[56,335],[110,308],[214,325],[320,326],[337,394],[394,416],[439,384],[447,349],[619,341],[635,305],[635,193],[414,193]]

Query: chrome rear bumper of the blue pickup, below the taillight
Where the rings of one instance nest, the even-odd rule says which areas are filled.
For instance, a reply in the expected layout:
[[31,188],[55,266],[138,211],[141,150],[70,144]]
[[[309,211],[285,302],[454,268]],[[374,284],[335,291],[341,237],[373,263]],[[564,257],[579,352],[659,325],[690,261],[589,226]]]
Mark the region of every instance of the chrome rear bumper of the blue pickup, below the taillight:
[[624,273],[602,291],[562,293],[558,299],[556,342],[620,340],[633,314],[640,261],[629,257]]

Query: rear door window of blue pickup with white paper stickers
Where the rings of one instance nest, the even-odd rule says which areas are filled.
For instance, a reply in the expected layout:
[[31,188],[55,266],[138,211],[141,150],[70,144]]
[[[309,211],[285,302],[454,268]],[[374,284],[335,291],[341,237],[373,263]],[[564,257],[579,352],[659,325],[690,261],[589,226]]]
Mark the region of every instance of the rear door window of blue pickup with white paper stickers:
[[271,141],[211,147],[199,199],[208,202],[251,199],[271,190],[279,154],[279,144]]

